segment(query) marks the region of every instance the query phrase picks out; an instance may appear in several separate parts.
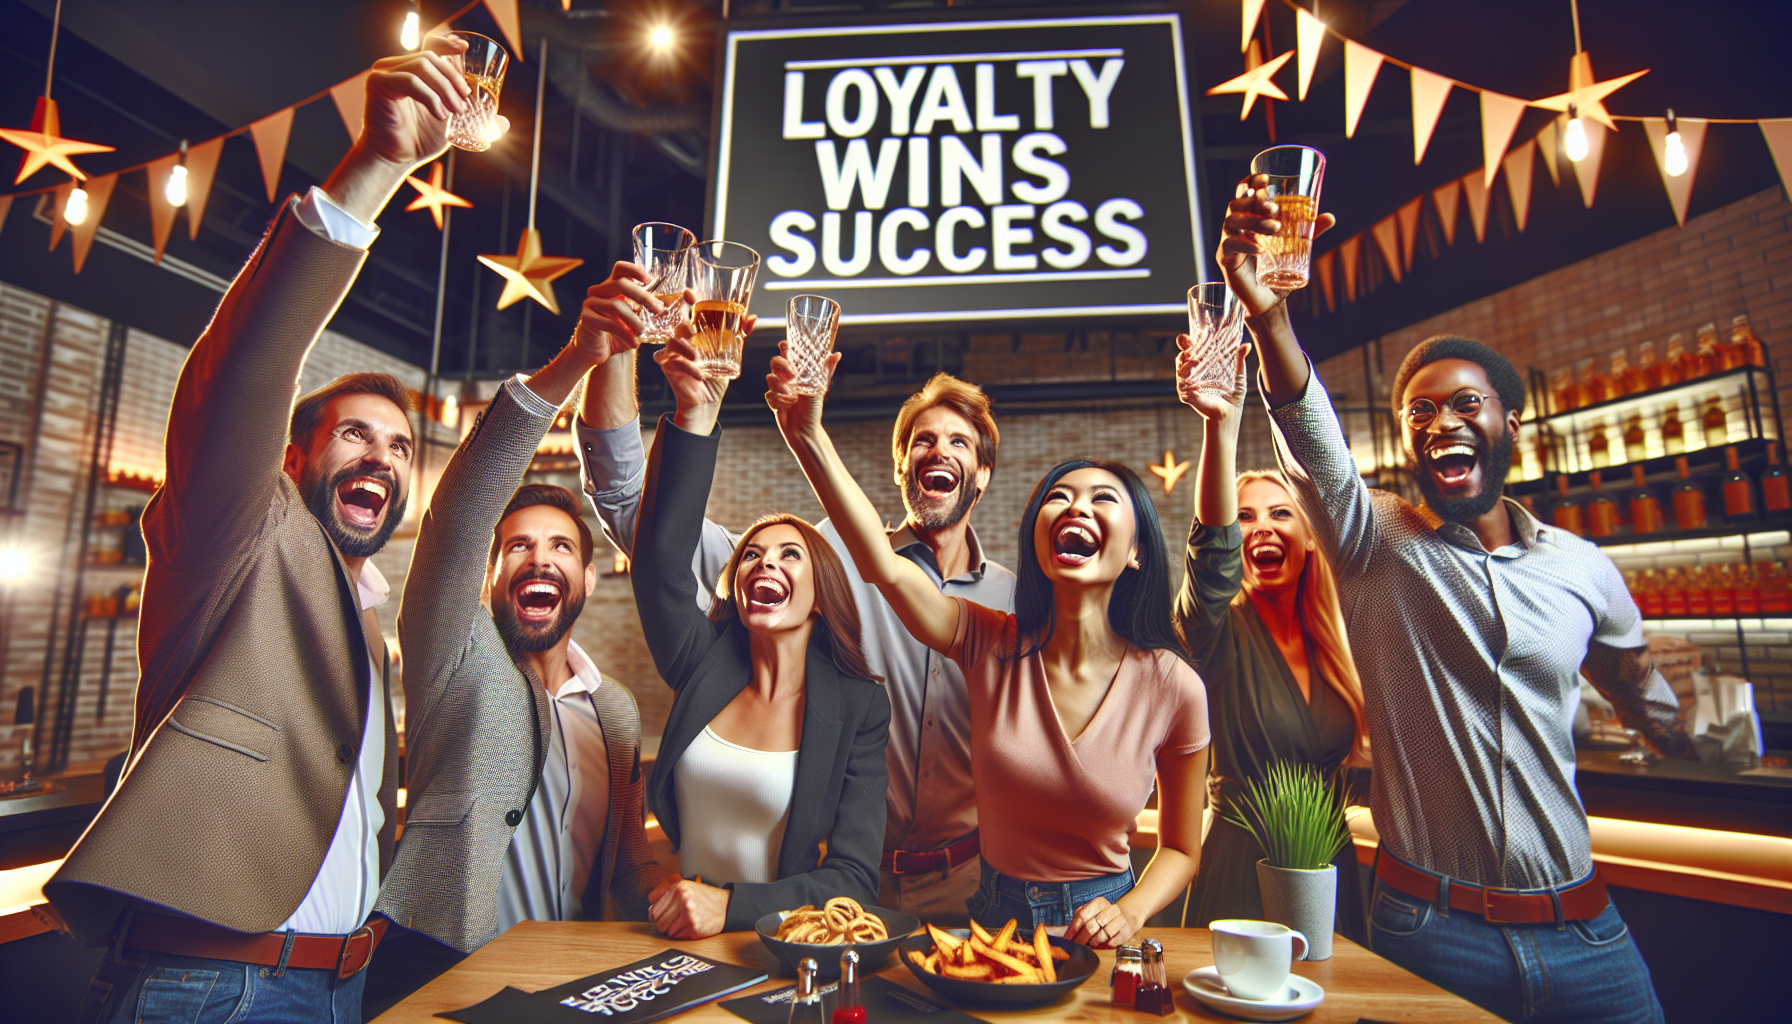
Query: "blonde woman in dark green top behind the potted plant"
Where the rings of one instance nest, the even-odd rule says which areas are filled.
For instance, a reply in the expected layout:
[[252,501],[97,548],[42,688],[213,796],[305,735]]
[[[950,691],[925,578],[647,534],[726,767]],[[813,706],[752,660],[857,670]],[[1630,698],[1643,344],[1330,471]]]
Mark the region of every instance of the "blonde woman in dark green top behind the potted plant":
[[[1188,339],[1179,339],[1188,359]],[[1195,477],[1188,574],[1176,597],[1176,629],[1208,683],[1215,811],[1276,760],[1317,766],[1328,777],[1366,766],[1369,730],[1351,662],[1331,565],[1281,473],[1236,473],[1245,348],[1231,395],[1195,396],[1206,420]],[[1256,839],[1215,818],[1201,846],[1201,877],[1186,924],[1262,918]],[[1339,870],[1335,929],[1366,938],[1357,848]]]

